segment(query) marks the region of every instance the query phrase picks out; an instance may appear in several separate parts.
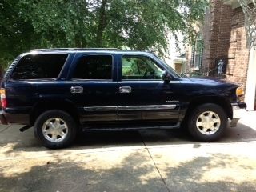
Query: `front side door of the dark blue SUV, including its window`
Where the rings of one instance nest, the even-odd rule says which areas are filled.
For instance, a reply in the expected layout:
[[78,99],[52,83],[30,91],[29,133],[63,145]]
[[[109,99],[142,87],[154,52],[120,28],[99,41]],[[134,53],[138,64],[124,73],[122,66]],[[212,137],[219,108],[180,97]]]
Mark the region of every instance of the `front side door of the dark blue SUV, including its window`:
[[153,58],[130,54],[118,58],[118,119],[178,120],[179,81],[162,81],[164,69]]

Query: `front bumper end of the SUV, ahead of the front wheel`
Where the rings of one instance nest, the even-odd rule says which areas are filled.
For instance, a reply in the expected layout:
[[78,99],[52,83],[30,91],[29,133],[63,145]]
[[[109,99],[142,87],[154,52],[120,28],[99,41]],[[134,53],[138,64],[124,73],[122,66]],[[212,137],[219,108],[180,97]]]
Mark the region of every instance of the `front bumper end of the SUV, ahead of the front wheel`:
[[237,126],[238,120],[242,118],[242,115],[246,112],[245,102],[232,102],[233,118],[231,119],[230,126]]

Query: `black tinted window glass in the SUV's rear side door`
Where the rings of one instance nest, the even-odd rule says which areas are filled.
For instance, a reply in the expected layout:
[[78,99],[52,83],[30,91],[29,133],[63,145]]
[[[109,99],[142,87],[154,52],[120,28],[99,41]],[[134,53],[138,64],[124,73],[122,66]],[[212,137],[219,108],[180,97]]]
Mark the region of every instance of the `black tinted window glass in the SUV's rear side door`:
[[73,78],[112,79],[112,56],[88,55],[80,58]]

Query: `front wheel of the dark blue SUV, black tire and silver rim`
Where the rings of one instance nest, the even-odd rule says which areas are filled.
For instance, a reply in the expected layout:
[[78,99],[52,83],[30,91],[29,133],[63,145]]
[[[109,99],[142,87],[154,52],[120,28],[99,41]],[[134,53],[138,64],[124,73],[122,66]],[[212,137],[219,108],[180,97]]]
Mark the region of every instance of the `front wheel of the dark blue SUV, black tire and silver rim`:
[[[209,111],[213,113],[208,113]],[[206,120],[202,120],[203,118]],[[212,121],[212,119],[214,120]],[[194,139],[212,142],[222,137],[227,125],[227,115],[221,106],[206,103],[191,111],[187,125]]]

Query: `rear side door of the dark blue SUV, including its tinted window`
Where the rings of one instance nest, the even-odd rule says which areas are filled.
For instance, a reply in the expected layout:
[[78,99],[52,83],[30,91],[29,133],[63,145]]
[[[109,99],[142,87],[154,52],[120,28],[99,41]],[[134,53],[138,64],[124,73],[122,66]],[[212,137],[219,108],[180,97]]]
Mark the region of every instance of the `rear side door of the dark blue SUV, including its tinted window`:
[[70,69],[67,88],[78,106],[82,122],[118,119],[115,54],[78,53]]

